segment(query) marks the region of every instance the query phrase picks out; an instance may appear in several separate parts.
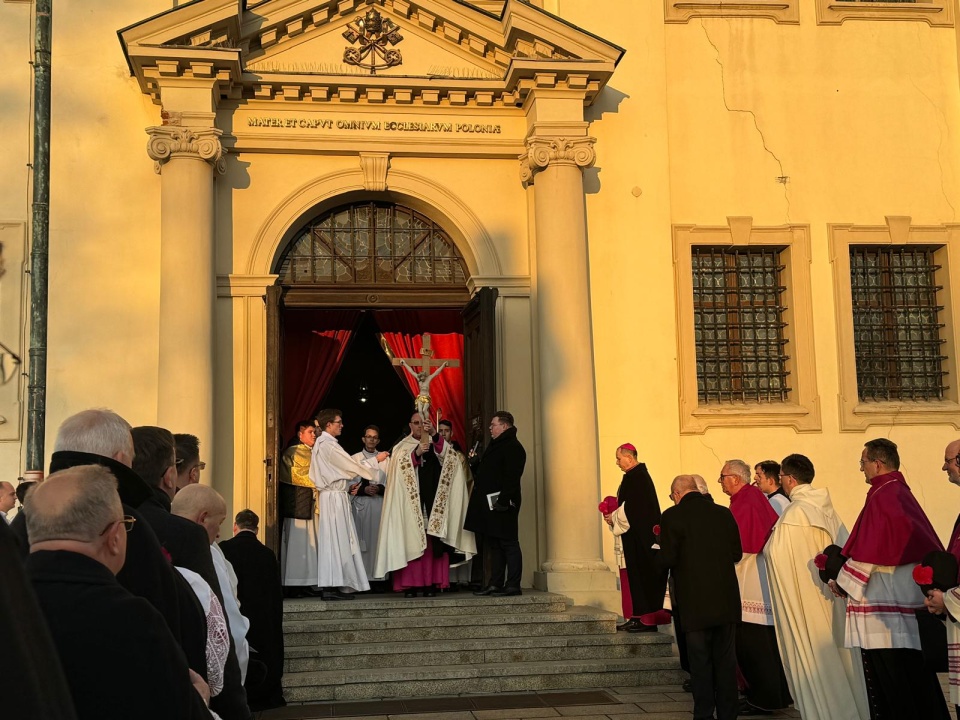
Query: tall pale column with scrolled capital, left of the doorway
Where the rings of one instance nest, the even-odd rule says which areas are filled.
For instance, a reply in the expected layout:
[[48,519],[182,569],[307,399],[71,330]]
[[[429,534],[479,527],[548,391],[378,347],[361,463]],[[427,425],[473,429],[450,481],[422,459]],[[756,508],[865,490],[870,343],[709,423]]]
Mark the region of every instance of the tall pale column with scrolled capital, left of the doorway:
[[213,168],[220,130],[147,129],[160,173],[160,363],[157,422],[200,438],[213,452]]

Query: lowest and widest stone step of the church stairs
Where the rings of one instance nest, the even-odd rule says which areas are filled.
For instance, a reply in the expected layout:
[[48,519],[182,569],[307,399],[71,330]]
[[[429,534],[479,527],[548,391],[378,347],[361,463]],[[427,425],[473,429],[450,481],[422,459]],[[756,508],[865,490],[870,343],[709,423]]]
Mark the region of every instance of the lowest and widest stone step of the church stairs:
[[285,674],[283,684],[289,702],[317,702],[664,685],[684,677],[676,658],[663,657],[300,672]]

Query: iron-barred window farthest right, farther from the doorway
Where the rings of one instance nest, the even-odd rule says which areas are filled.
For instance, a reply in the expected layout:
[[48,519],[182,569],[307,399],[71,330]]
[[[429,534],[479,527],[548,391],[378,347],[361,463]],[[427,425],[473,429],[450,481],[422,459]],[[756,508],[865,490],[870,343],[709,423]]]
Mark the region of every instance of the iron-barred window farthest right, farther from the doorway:
[[946,396],[938,249],[850,246],[854,354],[862,402]]

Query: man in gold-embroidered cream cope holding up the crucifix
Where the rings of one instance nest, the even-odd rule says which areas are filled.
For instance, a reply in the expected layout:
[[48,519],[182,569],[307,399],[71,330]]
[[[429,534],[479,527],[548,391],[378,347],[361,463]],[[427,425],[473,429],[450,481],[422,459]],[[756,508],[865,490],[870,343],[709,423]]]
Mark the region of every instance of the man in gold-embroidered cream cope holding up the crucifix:
[[[395,573],[394,589],[407,589],[411,594],[422,587],[427,596],[434,594],[437,587],[449,585],[449,564],[444,568],[442,563],[433,562],[434,539],[463,553],[467,559],[477,552],[473,533],[463,529],[470,499],[466,460],[452,443],[445,442],[440,435],[431,438],[431,434],[432,428],[424,428],[419,413],[414,413],[410,435],[393,448],[374,569],[376,576],[381,577],[409,566],[411,571],[417,571],[409,574],[416,574],[418,579],[404,579],[402,572]],[[421,480],[425,478],[421,475],[436,461],[440,465],[439,477],[435,487],[431,483],[435,495],[429,507],[425,507],[425,498],[421,498]],[[427,462],[431,465],[427,466]],[[432,574],[443,570],[446,572],[442,577]],[[422,584],[419,578],[423,578]],[[404,584],[409,582],[416,584]]]

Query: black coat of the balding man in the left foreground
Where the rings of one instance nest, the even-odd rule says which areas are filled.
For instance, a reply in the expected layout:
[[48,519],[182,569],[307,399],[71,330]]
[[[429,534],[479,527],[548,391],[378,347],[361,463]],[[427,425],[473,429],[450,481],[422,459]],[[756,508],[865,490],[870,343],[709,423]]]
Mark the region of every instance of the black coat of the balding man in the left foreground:
[[163,617],[96,560],[35,552],[27,575],[79,720],[210,718]]

